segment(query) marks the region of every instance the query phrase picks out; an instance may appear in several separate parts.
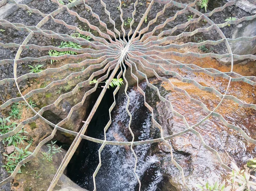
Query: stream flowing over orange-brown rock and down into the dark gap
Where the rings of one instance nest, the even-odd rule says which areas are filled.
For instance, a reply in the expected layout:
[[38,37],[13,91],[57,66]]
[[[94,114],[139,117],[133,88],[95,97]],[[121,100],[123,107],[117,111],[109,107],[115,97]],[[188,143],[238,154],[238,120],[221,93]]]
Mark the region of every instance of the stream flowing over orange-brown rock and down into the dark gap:
[[[168,66],[169,67],[169,66]],[[172,68],[175,69],[175,68]],[[196,80],[203,86],[213,87],[222,94],[226,91],[228,80],[221,77],[209,77],[204,73],[193,73],[183,68],[175,69],[181,76]],[[175,77],[167,76],[171,83],[185,90],[191,98],[201,101],[213,110],[221,98],[211,92],[202,91],[192,83],[183,83]],[[192,102],[185,94],[175,91],[170,83],[157,79],[149,82],[159,89],[160,95],[168,100],[175,111],[182,114],[188,125],[193,126],[207,117],[201,105]],[[140,83],[145,92],[146,102],[153,108],[154,119],[162,126],[163,136],[169,136],[186,129],[185,123],[173,114],[171,107],[161,101],[157,92]],[[122,88],[120,91],[123,91]],[[132,115],[131,129],[134,141],[149,140],[160,137],[160,131],[152,123],[152,114],[144,105],[144,97],[137,86],[128,90],[130,104],[128,110]],[[246,103],[255,103],[255,89],[245,83],[231,83],[227,94],[239,97]],[[108,123],[108,109],[113,103],[112,92],[102,101],[87,135],[104,139],[103,128]],[[130,117],[126,111],[127,97],[119,93],[117,104],[111,112],[112,123],[106,132],[110,141],[131,141],[132,135],[128,129]],[[103,106],[102,106],[103,105]],[[105,105],[105,106],[104,106]],[[250,137],[255,139],[256,111],[242,108],[231,100],[224,100],[216,110],[229,123],[241,127]],[[236,162],[243,168],[246,162],[256,157],[255,145],[236,130],[228,128],[218,118],[211,116],[201,125],[194,128],[200,133],[204,143],[215,149],[224,164],[230,166]],[[196,184],[204,182],[222,182],[227,178],[227,171],[221,167],[215,154],[207,150],[201,143],[199,135],[192,132],[182,134],[168,140],[172,146],[173,159],[183,168],[186,184],[197,190]],[[99,164],[98,150],[100,144],[83,141],[77,154],[68,166],[68,176],[82,188],[94,189],[93,172]],[[185,191],[181,173],[173,164],[170,150],[163,143],[134,146],[137,156],[136,173],[141,182],[141,191]],[[98,191],[137,191],[139,183],[134,173],[135,157],[128,146],[106,145],[101,152],[102,166],[96,175]]]

